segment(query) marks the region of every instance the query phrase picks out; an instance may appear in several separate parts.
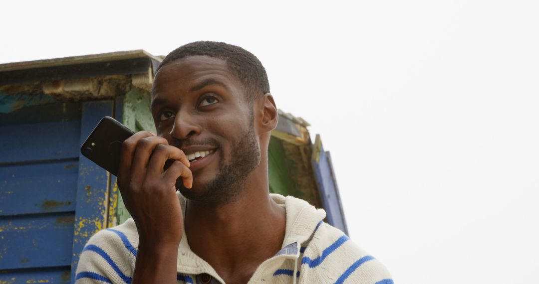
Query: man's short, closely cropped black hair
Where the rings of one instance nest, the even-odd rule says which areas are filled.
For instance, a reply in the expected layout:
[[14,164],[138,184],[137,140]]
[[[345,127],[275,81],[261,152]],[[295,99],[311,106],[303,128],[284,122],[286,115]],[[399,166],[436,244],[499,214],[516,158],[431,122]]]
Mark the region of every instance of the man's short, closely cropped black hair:
[[156,72],[168,63],[188,56],[205,55],[222,59],[227,67],[238,76],[247,92],[247,101],[253,102],[258,96],[269,93],[269,82],[266,69],[257,56],[245,49],[217,41],[195,41],[182,45],[169,53]]

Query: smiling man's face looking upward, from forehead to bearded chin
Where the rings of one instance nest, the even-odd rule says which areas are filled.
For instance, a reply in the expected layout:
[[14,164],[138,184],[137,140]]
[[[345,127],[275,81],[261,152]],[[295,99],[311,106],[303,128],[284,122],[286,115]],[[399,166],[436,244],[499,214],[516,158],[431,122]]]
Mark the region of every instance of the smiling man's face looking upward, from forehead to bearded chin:
[[245,90],[225,61],[209,56],[178,59],[157,73],[151,106],[157,134],[191,161],[193,187],[176,184],[184,196],[208,205],[228,203],[259,165]]

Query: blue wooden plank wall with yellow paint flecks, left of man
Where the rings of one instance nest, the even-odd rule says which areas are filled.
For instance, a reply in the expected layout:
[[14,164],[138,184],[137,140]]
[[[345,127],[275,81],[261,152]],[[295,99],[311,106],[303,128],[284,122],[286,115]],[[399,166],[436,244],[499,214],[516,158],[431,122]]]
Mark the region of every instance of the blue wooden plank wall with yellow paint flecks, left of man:
[[110,179],[79,149],[113,106],[0,113],[0,283],[70,283],[87,240],[106,228]]

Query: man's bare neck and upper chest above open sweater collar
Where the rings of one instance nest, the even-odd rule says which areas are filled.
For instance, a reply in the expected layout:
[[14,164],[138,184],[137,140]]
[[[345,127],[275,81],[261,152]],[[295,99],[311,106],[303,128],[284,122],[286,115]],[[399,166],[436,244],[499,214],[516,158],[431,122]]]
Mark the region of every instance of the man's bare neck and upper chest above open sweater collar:
[[189,246],[226,282],[228,275],[245,274],[243,278],[248,280],[258,265],[282,246],[286,212],[271,200],[267,184],[247,179],[236,200],[216,208],[187,203],[185,233]]

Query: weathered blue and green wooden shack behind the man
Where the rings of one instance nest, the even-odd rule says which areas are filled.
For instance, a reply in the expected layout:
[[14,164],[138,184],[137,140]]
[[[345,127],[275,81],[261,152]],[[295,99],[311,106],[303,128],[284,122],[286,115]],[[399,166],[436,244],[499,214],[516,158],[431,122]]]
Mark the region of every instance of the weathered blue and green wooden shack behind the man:
[[[87,240],[129,214],[115,176],[80,154],[103,116],[155,131],[149,90],[162,57],[142,50],[0,65],[0,283],[70,283]],[[331,159],[279,111],[269,188],[326,209],[347,232]]]

